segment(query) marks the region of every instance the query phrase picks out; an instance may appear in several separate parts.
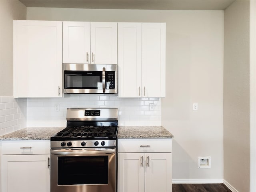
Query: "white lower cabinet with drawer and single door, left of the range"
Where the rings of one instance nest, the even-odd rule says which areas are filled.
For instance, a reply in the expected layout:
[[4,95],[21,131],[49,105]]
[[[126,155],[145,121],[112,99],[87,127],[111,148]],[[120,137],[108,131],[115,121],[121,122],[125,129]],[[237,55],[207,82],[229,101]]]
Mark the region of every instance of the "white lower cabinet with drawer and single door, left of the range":
[[[11,153],[14,144],[20,152]],[[48,145],[48,143],[49,145]],[[1,190],[2,192],[50,192],[50,153],[37,154],[37,141],[2,141]],[[50,152],[50,141],[40,141]],[[46,145],[44,143],[47,143]],[[37,144],[36,144],[37,145]],[[3,154],[8,150],[9,154]],[[42,149],[41,149],[42,150]]]

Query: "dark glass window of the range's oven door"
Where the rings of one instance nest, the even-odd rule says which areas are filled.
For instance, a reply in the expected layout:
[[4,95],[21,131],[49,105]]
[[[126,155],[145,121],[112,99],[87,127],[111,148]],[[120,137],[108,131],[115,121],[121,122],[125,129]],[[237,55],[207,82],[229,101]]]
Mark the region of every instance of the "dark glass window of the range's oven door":
[[108,184],[108,156],[58,157],[58,185]]

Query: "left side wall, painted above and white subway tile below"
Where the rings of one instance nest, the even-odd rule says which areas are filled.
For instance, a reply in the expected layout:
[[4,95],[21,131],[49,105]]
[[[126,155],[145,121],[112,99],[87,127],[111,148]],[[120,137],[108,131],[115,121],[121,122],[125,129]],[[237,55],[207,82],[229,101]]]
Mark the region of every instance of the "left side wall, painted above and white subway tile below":
[[0,0],[0,135],[26,126],[26,100],[12,96],[12,20],[18,19],[26,19],[26,6]]

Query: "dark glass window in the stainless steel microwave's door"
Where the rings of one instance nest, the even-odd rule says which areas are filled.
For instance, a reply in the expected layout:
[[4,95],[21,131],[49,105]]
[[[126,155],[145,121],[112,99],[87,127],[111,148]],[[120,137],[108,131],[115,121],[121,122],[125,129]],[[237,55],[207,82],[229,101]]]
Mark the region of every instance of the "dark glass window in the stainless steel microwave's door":
[[102,89],[102,71],[64,71],[65,89]]

